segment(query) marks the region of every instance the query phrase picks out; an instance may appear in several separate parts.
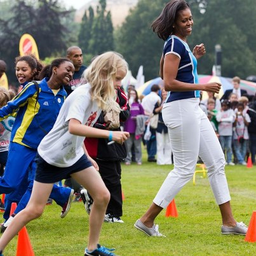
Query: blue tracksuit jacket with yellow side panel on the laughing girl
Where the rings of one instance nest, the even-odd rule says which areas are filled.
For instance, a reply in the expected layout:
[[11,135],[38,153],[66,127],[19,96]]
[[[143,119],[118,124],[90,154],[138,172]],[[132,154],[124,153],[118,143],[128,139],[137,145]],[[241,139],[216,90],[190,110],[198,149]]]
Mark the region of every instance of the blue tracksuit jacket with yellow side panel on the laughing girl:
[[11,142],[37,149],[46,133],[53,128],[67,93],[62,86],[55,95],[46,82],[46,78],[38,82],[38,98],[36,85],[30,82],[0,109],[0,121],[18,111],[11,132]]

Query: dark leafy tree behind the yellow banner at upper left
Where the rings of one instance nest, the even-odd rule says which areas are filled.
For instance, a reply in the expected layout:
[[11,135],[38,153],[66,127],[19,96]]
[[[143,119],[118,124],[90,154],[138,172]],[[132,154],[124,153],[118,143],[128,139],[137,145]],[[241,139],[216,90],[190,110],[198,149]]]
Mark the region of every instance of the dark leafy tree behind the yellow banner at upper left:
[[20,54],[18,44],[22,34],[28,33],[34,37],[41,59],[53,55],[63,56],[71,38],[70,31],[62,23],[64,17],[67,19],[71,16],[72,11],[61,8],[58,0],[10,3],[10,18],[0,20],[0,58],[8,65],[9,82],[15,83],[14,60]]

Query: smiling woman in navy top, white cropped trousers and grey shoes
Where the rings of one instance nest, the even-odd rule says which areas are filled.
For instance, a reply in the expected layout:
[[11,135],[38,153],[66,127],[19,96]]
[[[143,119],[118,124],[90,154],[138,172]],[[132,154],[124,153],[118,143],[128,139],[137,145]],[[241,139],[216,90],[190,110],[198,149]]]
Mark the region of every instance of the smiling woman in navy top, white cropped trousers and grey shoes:
[[152,29],[165,40],[160,61],[160,74],[169,91],[163,105],[163,121],[172,144],[174,168],[168,174],[147,212],[135,227],[149,236],[163,236],[154,220],[191,180],[198,156],[208,169],[208,178],[222,215],[222,234],[245,235],[247,227],[234,220],[224,172],[225,158],[219,140],[205,113],[199,107],[199,91],[219,93],[221,84],[198,84],[198,58],[205,55],[204,44],[191,51],[187,36],[191,35],[193,19],[189,4],[173,0],[166,4]]

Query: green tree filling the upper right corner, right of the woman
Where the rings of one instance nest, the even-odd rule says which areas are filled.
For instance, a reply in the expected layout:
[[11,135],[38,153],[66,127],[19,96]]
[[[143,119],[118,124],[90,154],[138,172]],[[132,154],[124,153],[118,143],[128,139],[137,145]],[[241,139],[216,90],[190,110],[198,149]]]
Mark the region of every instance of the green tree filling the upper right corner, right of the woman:
[[[191,1],[194,2],[194,1]],[[204,1],[205,12],[191,3],[194,26],[189,45],[204,43],[207,54],[199,60],[198,72],[211,74],[215,62],[215,44],[222,46],[222,76],[245,78],[255,74],[256,22],[255,1]],[[250,19],[248,19],[250,17]]]

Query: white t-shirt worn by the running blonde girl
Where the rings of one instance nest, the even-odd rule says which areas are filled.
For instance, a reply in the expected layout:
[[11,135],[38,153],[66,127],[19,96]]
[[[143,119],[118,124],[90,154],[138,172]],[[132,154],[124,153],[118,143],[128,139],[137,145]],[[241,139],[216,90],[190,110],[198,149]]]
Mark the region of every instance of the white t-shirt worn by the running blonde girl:
[[101,109],[90,97],[90,84],[83,84],[65,100],[55,125],[43,138],[37,151],[50,165],[69,167],[84,154],[84,137],[69,133],[69,120],[74,118],[83,125],[93,126]]

